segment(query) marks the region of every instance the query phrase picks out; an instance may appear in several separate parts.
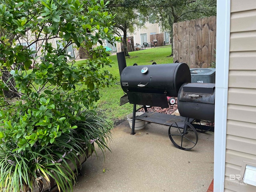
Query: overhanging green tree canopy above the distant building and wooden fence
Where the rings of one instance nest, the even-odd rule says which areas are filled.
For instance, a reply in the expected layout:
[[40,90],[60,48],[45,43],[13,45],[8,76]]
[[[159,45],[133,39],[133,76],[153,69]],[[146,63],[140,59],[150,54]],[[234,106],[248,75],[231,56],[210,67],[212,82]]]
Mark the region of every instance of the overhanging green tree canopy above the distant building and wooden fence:
[[[110,0],[108,8],[116,14],[115,26],[124,36],[148,20],[170,30],[172,38],[173,23],[216,15],[216,0]],[[125,38],[122,42],[126,45]]]

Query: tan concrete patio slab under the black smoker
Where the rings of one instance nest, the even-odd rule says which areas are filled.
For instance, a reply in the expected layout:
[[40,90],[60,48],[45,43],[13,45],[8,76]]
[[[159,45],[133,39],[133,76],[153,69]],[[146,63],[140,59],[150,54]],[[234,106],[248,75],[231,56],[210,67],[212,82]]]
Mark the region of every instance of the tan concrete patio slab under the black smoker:
[[190,151],[180,150],[168,126],[146,123],[131,135],[128,121],[112,130],[112,152],[98,151],[82,166],[74,192],[206,192],[213,179],[214,133],[198,133]]

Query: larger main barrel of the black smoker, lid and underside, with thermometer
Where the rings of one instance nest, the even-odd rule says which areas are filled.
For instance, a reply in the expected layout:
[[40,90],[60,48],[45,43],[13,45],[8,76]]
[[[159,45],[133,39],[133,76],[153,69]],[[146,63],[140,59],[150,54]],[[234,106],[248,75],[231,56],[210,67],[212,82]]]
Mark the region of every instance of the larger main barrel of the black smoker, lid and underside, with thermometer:
[[182,84],[190,82],[186,63],[128,66],[120,76],[131,104],[168,107],[166,96],[177,97]]

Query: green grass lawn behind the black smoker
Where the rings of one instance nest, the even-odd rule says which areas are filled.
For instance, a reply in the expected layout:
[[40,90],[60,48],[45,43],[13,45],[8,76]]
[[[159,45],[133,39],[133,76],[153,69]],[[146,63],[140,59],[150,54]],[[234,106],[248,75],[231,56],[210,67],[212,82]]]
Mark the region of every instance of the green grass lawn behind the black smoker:
[[[157,64],[173,63],[173,58],[167,57],[171,54],[171,46],[144,49],[129,52],[129,54],[130,58],[126,57],[127,66],[131,66],[134,63],[138,65],[151,65],[152,62],[156,62]],[[113,64],[112,68],[108,68],[108,70],[116,76],[117,80],[114,86],[102,89],[102,98],[97,102],[97,111],[108,120],[116,122],[117,120],[123,120],[129,113],[132,113],[133,105],[127,103],[119,106],[120,97],[124,95],[124,92],[120,86],[117,56],[111,55],[109,58],[112,60]],[[137,106],[137,109],[140,107],[141,106]]]

